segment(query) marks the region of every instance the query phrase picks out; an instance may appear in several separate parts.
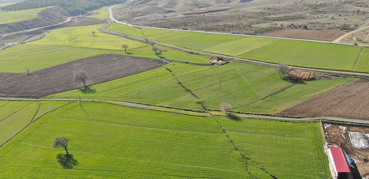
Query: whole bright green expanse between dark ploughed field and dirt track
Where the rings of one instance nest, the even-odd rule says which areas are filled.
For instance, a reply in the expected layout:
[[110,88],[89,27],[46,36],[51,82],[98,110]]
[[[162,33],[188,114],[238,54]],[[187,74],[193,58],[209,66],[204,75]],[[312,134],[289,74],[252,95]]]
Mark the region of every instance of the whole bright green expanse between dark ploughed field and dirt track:
[[[102,26],[62,28],[52,31],[41,40],[1,50],[0,72],[21,73],[26,72],[26,69],[37,71],[106,53],[198,64],[208,64],[210,61],[201,55],[160,46],[156,47],[166,51],[155,54],[148,44],[100,33],[97,30],[100,27]],[[93,37],[91,31],[96,31],[96,37]],[[127,53],[121,49],[122,44],[130,46]]]

